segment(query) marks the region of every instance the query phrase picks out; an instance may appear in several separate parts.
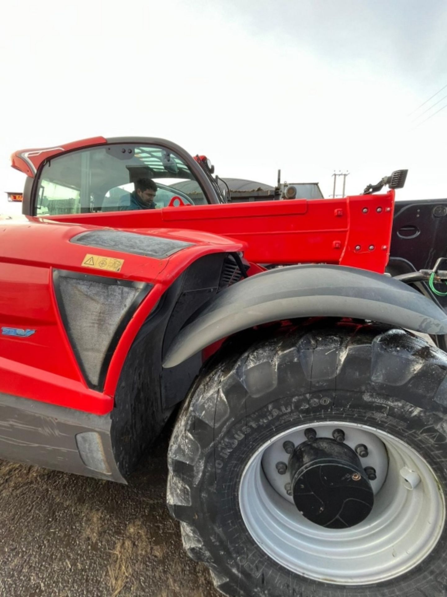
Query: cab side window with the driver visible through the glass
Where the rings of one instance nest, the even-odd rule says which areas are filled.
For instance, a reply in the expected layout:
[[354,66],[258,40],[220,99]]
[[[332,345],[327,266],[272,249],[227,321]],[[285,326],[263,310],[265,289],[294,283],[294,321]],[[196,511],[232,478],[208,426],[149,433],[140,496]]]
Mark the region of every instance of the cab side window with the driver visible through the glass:
[[109,145],[47,162],[38,183],[35,213],[160,209],[175,196],[188,205],[207,203],[181,158],[162,147]]

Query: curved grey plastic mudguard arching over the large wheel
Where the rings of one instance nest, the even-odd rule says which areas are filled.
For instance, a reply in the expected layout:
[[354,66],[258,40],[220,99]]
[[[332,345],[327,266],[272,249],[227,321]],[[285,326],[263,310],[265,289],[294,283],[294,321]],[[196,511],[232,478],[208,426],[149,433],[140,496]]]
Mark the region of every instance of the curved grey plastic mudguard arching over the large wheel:
[[371,319],[447,334],[447,313],[403,282],[354,267],[279,267],[218,294],[179,333],[163,367],[175,367],[216,340],[254,325],[315,316]]

